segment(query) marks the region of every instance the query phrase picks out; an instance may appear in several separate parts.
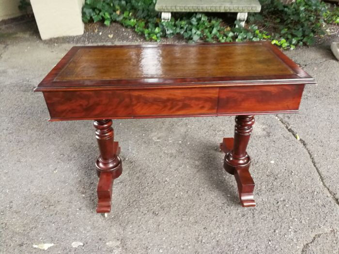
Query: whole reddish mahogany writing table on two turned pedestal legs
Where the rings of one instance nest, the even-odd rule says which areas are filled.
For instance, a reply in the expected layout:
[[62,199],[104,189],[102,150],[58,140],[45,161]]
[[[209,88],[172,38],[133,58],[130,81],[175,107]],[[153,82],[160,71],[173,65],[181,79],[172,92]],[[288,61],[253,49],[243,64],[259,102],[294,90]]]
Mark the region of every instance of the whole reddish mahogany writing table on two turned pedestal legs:
[[246,149],[254,115],[297,113],[312,83],[270,42],[76,46],[35,91],[43,92],[51,121],[94,120],[97,212],[109,212],[113,180],[122,174],[111,119],[236,116],[234,138],[224,138],[220,149],[242,206],[250,207]]

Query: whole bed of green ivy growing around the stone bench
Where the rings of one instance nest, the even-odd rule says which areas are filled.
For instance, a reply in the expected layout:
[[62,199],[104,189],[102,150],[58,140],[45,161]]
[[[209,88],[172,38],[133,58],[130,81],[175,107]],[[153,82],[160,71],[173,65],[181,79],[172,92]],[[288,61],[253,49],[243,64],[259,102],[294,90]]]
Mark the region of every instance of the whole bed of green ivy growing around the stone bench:
[[[326,23],[339,24],[339,8],[330,11],[319,0],[296,0],[283,5],[279,0],[261,0],[262,12],[249,15],[249,26],[226,25],[222,19],[204,14],[183,14],[170,21],[161,21],[154,10],[156,0],[86,0],[84,22],[118,22],[133,28],[146,40],[182,35],[189,42],[232,42],[271,40],[282,48],[312,45],[315,36],[325,34]],[[261,28],[261,29],[260,29]],[[269,32],[268,32],[269,31]]]

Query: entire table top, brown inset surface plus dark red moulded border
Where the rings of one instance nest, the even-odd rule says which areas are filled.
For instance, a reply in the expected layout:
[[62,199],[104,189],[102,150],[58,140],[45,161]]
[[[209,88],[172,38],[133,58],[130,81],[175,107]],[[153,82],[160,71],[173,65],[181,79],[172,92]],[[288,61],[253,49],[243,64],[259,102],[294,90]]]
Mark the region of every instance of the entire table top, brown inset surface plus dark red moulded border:
[[309,83],[270,42],[75,46],[36,91]]

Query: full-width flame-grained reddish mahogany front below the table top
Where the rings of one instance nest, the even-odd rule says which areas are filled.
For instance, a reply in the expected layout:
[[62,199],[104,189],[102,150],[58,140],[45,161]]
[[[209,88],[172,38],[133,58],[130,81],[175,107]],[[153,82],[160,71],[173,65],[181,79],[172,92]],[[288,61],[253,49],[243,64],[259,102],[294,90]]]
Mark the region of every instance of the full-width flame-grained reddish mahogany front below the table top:
[[44,92],[52,120],[295,112],[304,85]]

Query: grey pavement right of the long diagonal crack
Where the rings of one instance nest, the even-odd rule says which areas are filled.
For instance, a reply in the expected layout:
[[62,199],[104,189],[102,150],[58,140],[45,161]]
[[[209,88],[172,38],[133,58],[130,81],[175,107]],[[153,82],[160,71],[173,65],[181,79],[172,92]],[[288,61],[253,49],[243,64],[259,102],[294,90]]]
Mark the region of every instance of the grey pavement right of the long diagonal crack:
[[[306,65],[304,69],[317,80],[318,84],[306,86],[300,114],[279,117],[307,144],[325,186],[338,203],[339,62],[333,56],[329,45],[327,43],[310,48],[311,54],[301,54],[300,49],[287,52],[293,60]],[[324,60],[319,61],[320,59]]]

